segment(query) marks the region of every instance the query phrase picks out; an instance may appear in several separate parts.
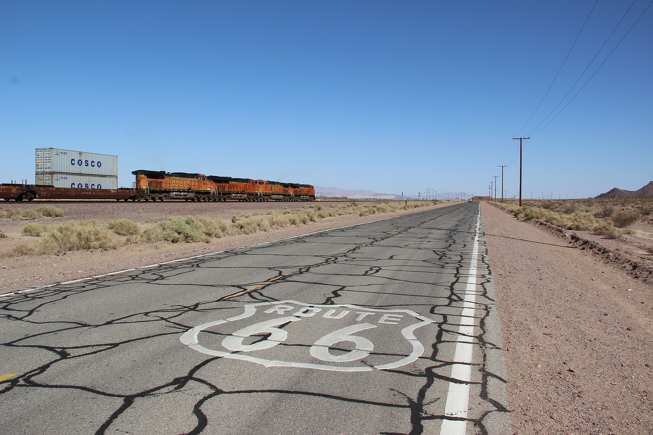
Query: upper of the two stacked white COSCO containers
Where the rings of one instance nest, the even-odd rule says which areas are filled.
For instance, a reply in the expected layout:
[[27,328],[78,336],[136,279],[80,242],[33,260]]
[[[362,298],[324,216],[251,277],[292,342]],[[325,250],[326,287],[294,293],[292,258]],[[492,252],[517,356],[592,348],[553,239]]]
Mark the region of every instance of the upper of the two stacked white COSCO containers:
[[37,148],[37,174],[118,176],[118,155]]

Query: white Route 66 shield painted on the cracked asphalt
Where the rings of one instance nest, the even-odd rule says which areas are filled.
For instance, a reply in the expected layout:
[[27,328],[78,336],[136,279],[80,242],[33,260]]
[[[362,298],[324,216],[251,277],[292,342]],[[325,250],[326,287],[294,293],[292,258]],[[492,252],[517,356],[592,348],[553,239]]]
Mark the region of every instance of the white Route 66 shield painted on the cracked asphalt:
[[410,310],[282,300],[246,304],[243,314],[199,325],[180,340],[206,355],[266,367],[361,372],[416,361],[424,346],[414,332],[431,323]]

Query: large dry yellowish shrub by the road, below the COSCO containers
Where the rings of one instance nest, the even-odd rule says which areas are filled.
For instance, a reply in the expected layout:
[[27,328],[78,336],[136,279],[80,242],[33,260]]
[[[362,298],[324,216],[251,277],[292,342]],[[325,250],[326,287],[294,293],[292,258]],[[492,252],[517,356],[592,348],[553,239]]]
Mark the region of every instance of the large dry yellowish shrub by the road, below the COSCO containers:
[[44,238],[37,242],[37,253],[64,253],[88,249],[116,249],[111,232],[98,227],[95,219],[66,221],[48,229]]

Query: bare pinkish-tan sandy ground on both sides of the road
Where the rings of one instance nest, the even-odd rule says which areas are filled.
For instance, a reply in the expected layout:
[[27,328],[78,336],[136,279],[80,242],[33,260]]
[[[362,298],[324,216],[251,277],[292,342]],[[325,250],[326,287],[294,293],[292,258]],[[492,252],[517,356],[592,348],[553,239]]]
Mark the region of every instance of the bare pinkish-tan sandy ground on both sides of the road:
[[[37,204],[20,204],[31,206]],[[143,227],[187,214],[229,220],[253,206],[271,210],[289,204],[57,204],[68,219],[105,223],[127,217]],[[513,432],[653,434],[653,285],[629,276],[609,256],[579,249],[571,234],[517,221],[486,203],[481,210],[498,295]],[[0,293],[389,216],[321,219],[210,244],[132,244],[116,251],[1,258]],[[0,239],[0,251],[25,242],[20,236],[24,223],[0,221],[9,235]]]

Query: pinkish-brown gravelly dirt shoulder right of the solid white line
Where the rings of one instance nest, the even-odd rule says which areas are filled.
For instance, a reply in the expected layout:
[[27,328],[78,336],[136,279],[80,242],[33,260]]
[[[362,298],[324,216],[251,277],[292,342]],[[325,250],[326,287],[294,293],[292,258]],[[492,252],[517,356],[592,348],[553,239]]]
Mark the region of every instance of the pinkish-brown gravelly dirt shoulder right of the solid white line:
[[513,432],[653,433],[653,285],[571,238],[481,212]]

